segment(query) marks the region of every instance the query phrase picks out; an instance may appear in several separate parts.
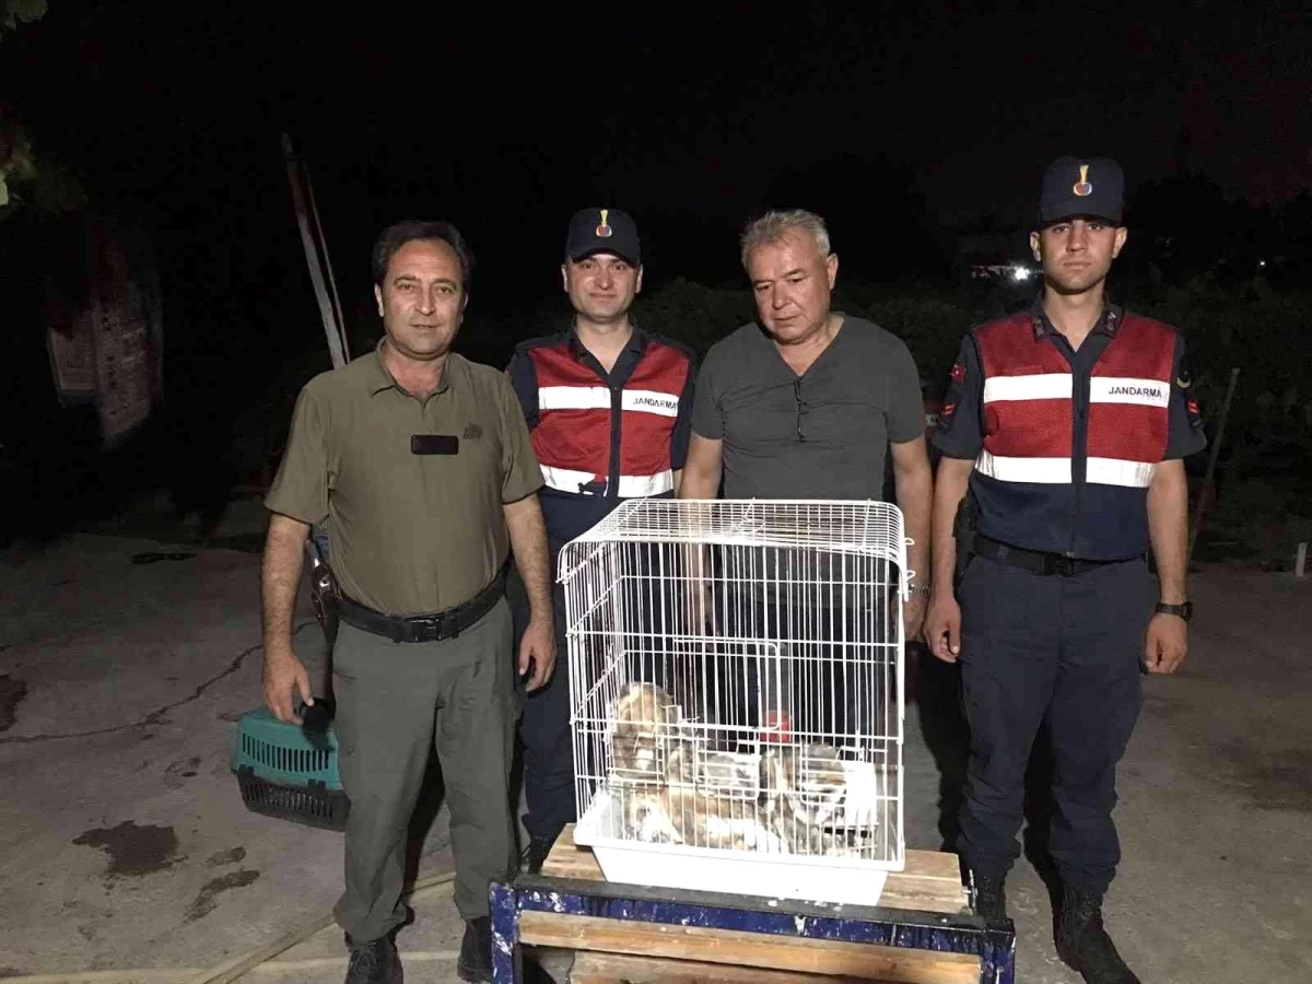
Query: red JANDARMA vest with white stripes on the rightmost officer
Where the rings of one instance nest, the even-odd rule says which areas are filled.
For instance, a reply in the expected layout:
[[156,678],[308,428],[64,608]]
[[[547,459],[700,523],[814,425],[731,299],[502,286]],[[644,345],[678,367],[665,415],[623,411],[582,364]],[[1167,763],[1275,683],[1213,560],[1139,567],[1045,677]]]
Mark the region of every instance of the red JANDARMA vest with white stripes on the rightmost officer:
[[[1145,497],[1166,451],[1177,336],[1147,318],[1118,320],[1088,377],[1072,374],[1029,314],[972,332],[984,380],[972,484],[985,535],[1088,559],[1147,548]],[[1088,387],[1086,400],[1077,387]]]

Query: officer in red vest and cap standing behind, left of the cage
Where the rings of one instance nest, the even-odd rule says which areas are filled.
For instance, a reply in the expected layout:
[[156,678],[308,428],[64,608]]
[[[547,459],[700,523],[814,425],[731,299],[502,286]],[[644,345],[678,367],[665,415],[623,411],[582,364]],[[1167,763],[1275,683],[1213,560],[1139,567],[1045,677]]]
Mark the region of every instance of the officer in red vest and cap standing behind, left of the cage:
[[[697,366],[676,341],[639,328],[628,310],[642,290],[638,227],[618,209],[569,222],[560,266],[573,307],[563,331],[520,344],[508,373],[523,405],[546,483],[539,493],[556,569],[560,548],[619,502],[673,497],[687,454]],[[512,584],[512,602],[518,596]],[[518,606],[516,606],[518,607]],[[526,866],[541,867],[575,820],[564,597],[555,585],[552,680],[529,694],[520,723],[529,830]],[[527,622],[521,609],[518,625]]]

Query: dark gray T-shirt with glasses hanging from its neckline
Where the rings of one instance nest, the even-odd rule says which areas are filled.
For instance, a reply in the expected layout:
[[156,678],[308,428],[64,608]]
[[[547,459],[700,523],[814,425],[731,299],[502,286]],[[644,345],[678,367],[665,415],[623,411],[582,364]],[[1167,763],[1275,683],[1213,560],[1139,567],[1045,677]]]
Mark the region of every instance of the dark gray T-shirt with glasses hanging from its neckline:
[[800,377],[754,323],[711,346],[697,377],[693,433],[724,442],[726,499],[878,500],[888,442],[925,433],[907,345],[840,316],[829,348]]

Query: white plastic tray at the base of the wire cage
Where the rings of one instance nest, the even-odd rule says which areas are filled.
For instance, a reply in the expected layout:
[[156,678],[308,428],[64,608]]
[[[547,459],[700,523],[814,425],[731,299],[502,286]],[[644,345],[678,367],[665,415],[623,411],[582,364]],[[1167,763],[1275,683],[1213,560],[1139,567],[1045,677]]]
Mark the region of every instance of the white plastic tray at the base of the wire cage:
[[625,840],[610,834],[618,829],[615,808],[611,795],[600,790],[575,827],[575,844],[592,848],[607,882],[878,905],[888,872],[905,865],[903,850],[897,851],[900,861],[880,862]]

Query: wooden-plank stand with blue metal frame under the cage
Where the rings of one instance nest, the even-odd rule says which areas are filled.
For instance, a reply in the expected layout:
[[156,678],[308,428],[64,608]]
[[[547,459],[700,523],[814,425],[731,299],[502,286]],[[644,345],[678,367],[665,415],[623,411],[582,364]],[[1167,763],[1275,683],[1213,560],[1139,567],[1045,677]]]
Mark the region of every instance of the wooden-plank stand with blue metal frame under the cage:
[[[954,945],[955,933],[979,933],[977,928],[963,930],[962,920],[979,920],[970,914],[951,854],[908,851],[905,870],[890,874],[878,909],[828,907],[609,883],[593,853],[575,845],[573,828],[568,827],[541,875],[521,876],[516,883],[493,886],[493,916],[496,921],[501,913],[502,928],[514,903],[513,937],[502,929],[500,939],[573,953],[571,981],[581,984],[994,980],[996,953],[985,967],[979,954],[962,953]],[[678,918],[681,912],[686,914]],[[766,928],[771,920],[773,928]],[[824,924],[827,937],[846,938],[808,935],[808,920]],[[942,938],[935,935],[939,925]],[[502,970],[497,980],[517,976]],[[1010,981],[1010,972],[996,979]]]

